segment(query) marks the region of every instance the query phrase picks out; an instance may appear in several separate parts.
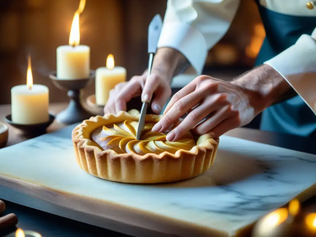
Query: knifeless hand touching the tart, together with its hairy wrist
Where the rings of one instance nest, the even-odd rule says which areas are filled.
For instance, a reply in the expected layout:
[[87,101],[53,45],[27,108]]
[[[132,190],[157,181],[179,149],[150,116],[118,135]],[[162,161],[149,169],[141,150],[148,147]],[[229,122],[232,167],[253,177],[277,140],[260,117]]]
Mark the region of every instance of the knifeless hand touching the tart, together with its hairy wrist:
[[[186,118],[167,134],[168,141],[179,139],[192,128],[198,135],[210,133],[214,138],[220,137],[231,129],[250,123],[270,105],[294,96],[293,91],[283,76],[267,64],[231,82],[210,76],[198,76],[172,97],[163,118],[152,130],[164,132],[189,112]],[[191,111],[198,103],[200,104]],[[198,124],[208,115],[208,119]]]

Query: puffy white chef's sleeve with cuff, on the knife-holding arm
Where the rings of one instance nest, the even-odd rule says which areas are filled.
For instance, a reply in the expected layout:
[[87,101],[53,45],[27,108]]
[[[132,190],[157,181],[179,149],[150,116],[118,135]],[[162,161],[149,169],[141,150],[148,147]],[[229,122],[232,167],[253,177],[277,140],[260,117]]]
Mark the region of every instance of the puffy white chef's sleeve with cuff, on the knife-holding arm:
[[227,32],[239,0],[168,0],[158,48],[181,52],[201,74],[208,50]]

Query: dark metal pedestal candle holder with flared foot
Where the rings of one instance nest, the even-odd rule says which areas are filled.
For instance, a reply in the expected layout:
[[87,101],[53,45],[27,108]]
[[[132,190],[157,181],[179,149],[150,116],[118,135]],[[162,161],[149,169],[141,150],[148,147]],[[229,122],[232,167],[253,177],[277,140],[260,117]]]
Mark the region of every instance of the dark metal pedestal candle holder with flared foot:
[[49,78],[52,80],[53,84],[57,88],[67,91],[67,95],[70,98],[68,107],[56,116],[56,120],[59,123],[69,125],[82,122],[83,120],[94,116],[84,109],[80,100],[80,90],[86,88],[87,85],[92,82],[94,77],[94,70],[90,70],[89,77],[76,79],[58,78],[56,71],[49,74]]

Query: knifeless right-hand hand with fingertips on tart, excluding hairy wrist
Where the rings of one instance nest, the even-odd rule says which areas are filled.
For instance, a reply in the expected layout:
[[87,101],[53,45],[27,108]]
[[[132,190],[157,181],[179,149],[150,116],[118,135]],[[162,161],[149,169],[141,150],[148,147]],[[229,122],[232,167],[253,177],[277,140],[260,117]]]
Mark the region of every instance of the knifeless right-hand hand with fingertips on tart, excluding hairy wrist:
[[[210,76],[198,76],[172,97],[163,118],[152,131],[166,131],[170,125],[200,103],[167,134],[167,140],[175,141],[192,128],[198,135],[210,133],[214,138],[219,137],[252,121],[257,114],[252,106],[252,99],[250,93],[232,83]],[[211,116],[208,119],[198,124],[209,114]]]

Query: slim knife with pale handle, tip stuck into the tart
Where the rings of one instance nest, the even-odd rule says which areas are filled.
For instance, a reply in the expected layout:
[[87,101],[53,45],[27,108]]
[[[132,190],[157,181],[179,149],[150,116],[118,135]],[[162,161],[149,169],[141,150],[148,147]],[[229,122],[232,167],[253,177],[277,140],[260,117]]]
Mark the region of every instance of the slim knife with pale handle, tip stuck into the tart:
[[[159,40],[160,32],[162,28],[162,19],[159,14],[155,15],[154,18],[151,20],[149,27],[148,27],[148,53],[149,53],[149,60],[148,60],[148,73],[147,73],[147,80],[151,73],[151,66],[153,63],[154,54],[157,50],[157,43]],[[148,103],[143,102],[142,109],[139,116],[138,127],[136,132],[136,140],[140,140],[142,136],[142,131],[145,126],[145,116],[147,112]]]

